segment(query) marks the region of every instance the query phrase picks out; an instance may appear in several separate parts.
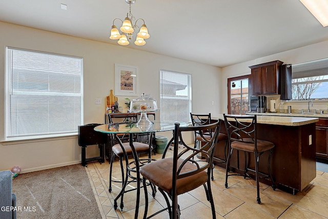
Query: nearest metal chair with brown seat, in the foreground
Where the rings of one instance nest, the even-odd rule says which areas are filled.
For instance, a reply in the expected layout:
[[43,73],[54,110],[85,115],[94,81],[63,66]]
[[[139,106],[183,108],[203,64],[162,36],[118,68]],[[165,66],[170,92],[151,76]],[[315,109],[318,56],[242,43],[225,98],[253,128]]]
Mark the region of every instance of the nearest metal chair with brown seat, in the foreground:
[[[203,186],[206,196],[211,204],[212,217],[216,218],[215,207],[211,190],[211,169],[214,150],[217,142],[217,135],[220,129],[220,123],[201,126],[180,127],[175,123],[174,137],[168,143],[167,148],[161,160],[153,161],[140,167],[140,174],[143,176],[142,183],[145,191],[145,212],[144,218],[150,218],[158,213],[168,210],[170,218],[178,218],[180,207],[177,202],[177,196]],[[212,137],[208,138],[202,134],[206,130],[212,130]],[[190,147],[183,138],[184,133],[190,131],[199,131],[201,141],[205,144],[200,148]],[[174,141],[173,157],[165,157],[168,147]],[[186,140],[188,141],[188,140]],[[178,152],[179,144],[185,148]],[[206,159],[196,160],[197,153],[202,153]],[[146,180],[158,187],[158,191],[165,197],[167,208],[162,209],[149,217],[148,213],[148,192]],[[172,206],[170,204],[172,201]]]

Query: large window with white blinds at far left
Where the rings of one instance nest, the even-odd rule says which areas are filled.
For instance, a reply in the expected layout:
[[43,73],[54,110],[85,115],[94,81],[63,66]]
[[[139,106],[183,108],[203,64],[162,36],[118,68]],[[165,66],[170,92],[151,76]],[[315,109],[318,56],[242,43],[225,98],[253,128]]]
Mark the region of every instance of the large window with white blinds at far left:
[[6,139],[74,134],[83,59],[7,47]]

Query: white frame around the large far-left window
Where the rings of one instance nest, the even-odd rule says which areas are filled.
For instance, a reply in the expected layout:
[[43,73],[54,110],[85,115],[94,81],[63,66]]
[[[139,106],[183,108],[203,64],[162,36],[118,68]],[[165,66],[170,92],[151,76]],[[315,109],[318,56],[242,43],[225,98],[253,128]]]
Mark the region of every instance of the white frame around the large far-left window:
[[[11,72],[9,72],[9,70],[12,70],[11,67],[8,66],[8,50],[16,50],[16,51],[26,51],[26,52],[31,52],[31,53],[38,53],[38,54],[46,54],[46,55],[55,55],[55,56],[60,56],[60,57],[68,57],[68,58],[76,58],[76,60],[80,63],[80,71],[79,71],[79,93],[76,94],[67,94],[67,95],[63,95],[63,96],[78,96],[79,99],[79,111],[80,111],[80,119],[79,119],[79,124],[81,125],[83,124],[83,97],[84,97],[84,89],[83,89],[83,57],[77,57],[77,56],[72,56],[72,55],[63,55],[63,54],[57,54],[57,53],[50,53],[50,52],[43,52],[43,51],[36,51],[36,50],[29,50],[29,49],[22,49],[22,48],[15,48],[15,47],[9,47],[7,46],[5,51],[5,88],[4,88],[4,94],[5,94],[5,99],[4,99],[4,141],[5,142],[10,142],[10,141],[21,141],[21,140],[35,140],[35,139],[39,139],[39,138],[50,138],[50,137],[61,137],[61,136],[72,136],[72,135],[77,135],[77,126],[76,129],[74,131],[67,131],[67,132],[49,132],[49,133],[44,133],[44,134],[40,134],[40,133],[36,133],[36,134],[19,134],[16,136],[11,136],[10,132],[9,132],[9,125],[11,125],[10,123],[10,115],[9,115],[9,110],[11,109],[10,106],[10,95],[12,95],[11,89],[12,89],[12,82],[9,82],[10,80],[10,76],[12,75]],[[32,71],[32,70],[31,70]],[[35,93],[35,94],[39,94],[36,96],[42,96],[42,90],[40,90],[41,92],[29,92],[28,90],[23,91],[21,93],[24,94],[28,94],[28,93]],[[62,91],[62,90],[61,90]],[[51,92],[48,92],[51,93]],[[44,95],[44,94],[43,94]],[[76,121],[76,120],[75,120]],[[10,123],[10,124],[9,124]],[[48,120],[47,120],[48,123]]]

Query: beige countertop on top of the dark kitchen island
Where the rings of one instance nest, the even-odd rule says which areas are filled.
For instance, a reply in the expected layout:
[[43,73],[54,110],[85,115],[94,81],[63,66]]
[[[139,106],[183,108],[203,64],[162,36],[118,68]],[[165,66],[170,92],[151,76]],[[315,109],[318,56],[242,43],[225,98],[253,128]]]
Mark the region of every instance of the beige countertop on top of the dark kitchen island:
[[[221,118],[223,114],[212,117],[214,120]],[[257,123],[281,126],[302,126],[306,124],[316,123],[318,117],[299,117],[299,116],[279,116],[279,115],[257,115]]]

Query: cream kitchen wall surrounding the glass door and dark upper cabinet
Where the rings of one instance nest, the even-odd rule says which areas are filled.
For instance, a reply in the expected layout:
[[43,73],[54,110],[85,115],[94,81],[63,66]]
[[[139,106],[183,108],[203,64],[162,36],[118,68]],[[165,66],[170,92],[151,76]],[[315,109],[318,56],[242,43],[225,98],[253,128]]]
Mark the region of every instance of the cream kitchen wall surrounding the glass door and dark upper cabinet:
[[[263,48],[265,49],[265,48]],[[241,75],[251,74],[251,69],[249,66],[267,63],[275,60],[280,60],[284,64],[299,64],[314,61],[317,59],[327,58],[328,57],[328,41],[324,41],[317,44],[312,44],[309,46],[276,53],[273,55],[261,57],[254,59],[249,62],[239,63],[236,65],[228,66],[222,69],[222,86],[220,90],[221,94],[221,112],[227,113],[227,104],[228,104],[228,90],[227,90],[227,82],[228,78],[236,77]],[[274,98],[275,99],[275,98]],[[278,103],[278,102],[277,102]],[[313,107],[311,109],[324,109],[326,110],[326,103],[322,101],[314,101]],[[300,102],[300,103],[284,103],[284,108],[286,109],[286,105],[292,105],[292,109],[307,109],[308,102]]]

